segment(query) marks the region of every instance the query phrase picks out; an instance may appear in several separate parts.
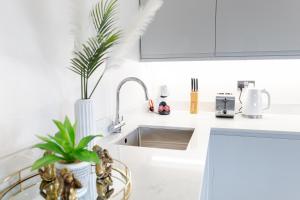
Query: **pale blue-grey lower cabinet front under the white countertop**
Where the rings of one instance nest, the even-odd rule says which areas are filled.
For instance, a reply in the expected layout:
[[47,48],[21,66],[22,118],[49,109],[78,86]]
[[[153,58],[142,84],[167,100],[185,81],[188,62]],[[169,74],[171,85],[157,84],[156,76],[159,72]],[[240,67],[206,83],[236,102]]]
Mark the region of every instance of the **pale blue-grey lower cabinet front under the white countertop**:
[[300,199],[299,137],[240,133],[211,136],[207,199]]

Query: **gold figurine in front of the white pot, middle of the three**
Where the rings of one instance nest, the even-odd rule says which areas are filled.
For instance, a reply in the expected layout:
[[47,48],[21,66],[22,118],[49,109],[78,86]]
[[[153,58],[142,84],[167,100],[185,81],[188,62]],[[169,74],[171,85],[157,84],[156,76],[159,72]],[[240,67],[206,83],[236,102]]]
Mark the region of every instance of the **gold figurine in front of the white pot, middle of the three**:
[[63,182],[61,200],[78,200],[76,189],[82,188],[81,183],[66,168],[60,171],[60,175]]

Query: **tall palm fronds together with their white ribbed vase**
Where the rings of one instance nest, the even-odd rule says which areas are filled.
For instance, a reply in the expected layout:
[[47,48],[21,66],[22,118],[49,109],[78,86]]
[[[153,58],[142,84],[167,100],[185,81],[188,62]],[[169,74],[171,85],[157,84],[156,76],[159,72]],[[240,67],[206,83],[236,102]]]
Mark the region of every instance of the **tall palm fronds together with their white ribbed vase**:
[[[105,73],[108,53],[120,38],[120,31],[115,28],[116,11],[117,0],[100,0],[93,7],[90,16],[96,34],[75,50],[71,59],[70,70],[80,76],[81,83],[81,99],[75,103],[76,134],[79,138],[95,133],[94,102],[91,97]],[[100,68],[102,74],[96,73]],[[97,81],[93,83],[92,77]]]

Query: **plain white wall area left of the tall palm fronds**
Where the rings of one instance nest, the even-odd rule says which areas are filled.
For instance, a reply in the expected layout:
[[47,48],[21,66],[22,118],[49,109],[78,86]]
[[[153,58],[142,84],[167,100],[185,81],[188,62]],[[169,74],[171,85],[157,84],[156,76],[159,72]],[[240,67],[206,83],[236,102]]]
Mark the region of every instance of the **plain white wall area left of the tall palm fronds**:
[[[68,1],[0,2],[0,156],[50,133],[72,110]],[[73,95],[74,94],[74,95]]]

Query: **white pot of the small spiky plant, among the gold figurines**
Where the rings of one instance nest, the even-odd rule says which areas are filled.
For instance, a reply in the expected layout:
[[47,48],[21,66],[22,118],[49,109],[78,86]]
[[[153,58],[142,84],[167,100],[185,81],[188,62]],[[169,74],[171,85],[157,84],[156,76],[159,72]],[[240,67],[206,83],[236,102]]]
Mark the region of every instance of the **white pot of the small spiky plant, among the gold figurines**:
[[80,162],[73,164],[63,164],[55,163],[55,168],[57,173],[60,173],[60,170],[67,168],[69,169],[76,179],[82,184],[82,188],[77,190],[77,197],[80,198],[84,196],[88,191],[89,180],[91,175],[91,165],[88,162]]

